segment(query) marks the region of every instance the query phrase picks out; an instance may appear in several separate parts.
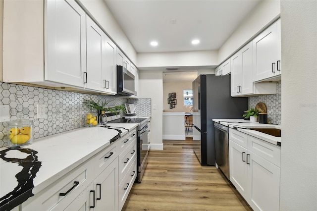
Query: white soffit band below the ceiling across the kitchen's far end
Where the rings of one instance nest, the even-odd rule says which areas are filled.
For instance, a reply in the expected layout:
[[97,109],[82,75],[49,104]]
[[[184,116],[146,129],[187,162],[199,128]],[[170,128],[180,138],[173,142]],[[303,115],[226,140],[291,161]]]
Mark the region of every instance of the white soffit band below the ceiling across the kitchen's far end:
[[216,66],[217,51],[138,53],[138,67]]

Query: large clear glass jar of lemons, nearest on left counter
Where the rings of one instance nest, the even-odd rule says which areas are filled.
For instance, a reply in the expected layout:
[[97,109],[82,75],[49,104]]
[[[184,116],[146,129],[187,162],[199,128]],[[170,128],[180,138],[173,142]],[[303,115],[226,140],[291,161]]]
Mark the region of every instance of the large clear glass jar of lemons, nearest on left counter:
[[33,120],[17,119],[7,122],[9,147],[20,147],[32,144]]

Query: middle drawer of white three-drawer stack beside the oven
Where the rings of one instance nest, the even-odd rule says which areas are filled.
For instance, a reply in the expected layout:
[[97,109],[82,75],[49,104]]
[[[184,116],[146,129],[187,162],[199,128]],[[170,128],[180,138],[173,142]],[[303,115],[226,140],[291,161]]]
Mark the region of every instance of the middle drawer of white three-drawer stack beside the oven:
[[134,140],[120,155],[119,155],[119,183],[127,173],[129,167],[137,157],[137,142]]

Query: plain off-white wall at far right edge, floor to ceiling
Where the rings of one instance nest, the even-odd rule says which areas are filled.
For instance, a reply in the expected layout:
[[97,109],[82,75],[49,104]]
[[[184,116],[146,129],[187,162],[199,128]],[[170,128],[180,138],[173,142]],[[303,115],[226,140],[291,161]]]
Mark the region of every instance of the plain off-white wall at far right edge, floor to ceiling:
[[317,1],[281,1],[281,211],[317,210]]

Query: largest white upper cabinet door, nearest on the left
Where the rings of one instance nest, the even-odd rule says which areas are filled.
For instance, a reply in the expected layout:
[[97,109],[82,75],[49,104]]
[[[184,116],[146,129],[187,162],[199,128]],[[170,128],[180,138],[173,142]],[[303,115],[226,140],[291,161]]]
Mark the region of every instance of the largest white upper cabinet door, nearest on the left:
[[75,0],[47,1],[45,80],[84,86],[86,13]]

